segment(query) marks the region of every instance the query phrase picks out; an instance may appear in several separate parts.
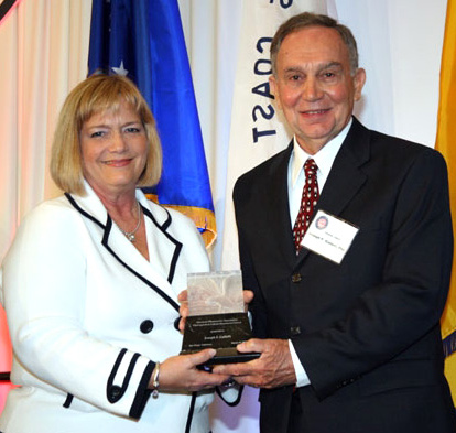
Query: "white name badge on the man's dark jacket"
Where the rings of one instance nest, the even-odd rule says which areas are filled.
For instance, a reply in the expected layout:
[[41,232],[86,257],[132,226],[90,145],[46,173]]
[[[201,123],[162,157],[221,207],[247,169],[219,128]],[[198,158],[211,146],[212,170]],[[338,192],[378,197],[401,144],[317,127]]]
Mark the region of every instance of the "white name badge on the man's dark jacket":
[[301,245],[340,264],[358,231],[352,224],[318,210]]

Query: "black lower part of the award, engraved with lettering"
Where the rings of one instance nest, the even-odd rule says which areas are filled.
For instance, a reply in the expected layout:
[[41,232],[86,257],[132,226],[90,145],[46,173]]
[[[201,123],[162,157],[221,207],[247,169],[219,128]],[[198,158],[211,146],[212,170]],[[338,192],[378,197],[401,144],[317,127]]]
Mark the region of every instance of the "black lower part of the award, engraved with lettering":
[[251,338],[247,313],[208,314],[188,316],[185,322],[182,355],[207,348],[217,350],[206,366],[217,364],[247,362],[260,356],[257,353],[241,354],[236,349],[239,343]]

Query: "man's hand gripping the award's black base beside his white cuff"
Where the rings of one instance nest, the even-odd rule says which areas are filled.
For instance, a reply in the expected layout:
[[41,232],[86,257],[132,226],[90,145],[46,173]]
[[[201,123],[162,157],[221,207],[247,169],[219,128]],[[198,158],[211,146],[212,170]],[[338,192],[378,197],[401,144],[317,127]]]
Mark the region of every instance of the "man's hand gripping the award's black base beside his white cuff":
[[252,338],[237,346],[241,353],[261,353],[249,362],[215,366],[217,375],[231,376],[238,383],[254,388],[276,388],[296,383],[293,361],[286,339]]

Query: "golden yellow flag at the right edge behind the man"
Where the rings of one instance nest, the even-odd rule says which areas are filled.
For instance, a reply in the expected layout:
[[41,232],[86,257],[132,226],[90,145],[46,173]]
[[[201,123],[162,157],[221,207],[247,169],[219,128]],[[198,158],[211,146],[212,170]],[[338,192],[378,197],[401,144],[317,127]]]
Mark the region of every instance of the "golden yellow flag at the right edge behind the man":
[[[456,229],[456,2],[448,1],[442,50],[441,91],[435,148],[448,166],[449,203],[453,230]],[[456,402],[456,243],[449,294],[442,316],[442,336],[446,355],[445,375]]]

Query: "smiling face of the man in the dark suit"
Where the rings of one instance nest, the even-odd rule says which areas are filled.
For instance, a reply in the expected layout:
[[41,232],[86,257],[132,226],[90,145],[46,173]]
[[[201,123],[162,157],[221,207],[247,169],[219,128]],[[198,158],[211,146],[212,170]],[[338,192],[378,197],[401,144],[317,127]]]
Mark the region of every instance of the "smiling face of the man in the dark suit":
[[337,31],[311,26],[283,40],[270,84],[297,142],[314,154],[348,123],[365,80],[363,69],[351,75]]

